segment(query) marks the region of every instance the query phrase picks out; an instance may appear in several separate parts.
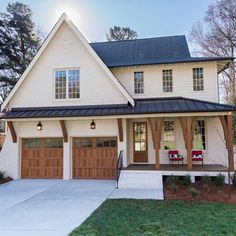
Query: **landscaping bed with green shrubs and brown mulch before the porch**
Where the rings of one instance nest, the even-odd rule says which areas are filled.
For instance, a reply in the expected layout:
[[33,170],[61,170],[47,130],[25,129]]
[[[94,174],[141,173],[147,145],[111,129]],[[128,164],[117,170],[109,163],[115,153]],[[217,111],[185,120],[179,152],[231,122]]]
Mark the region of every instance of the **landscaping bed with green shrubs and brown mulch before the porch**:
[[204,182],[204,179],[200,179],[195,183],[185,182],[185,178],[169,180],[168,178],[175,178],[175,176],[169,176],[164,181],[164,198],[165,200],[183,200],[183,201],[211,201],[220,203],[236,203],[236,187],[223,183],[217,182],[217,178],[208,178]]

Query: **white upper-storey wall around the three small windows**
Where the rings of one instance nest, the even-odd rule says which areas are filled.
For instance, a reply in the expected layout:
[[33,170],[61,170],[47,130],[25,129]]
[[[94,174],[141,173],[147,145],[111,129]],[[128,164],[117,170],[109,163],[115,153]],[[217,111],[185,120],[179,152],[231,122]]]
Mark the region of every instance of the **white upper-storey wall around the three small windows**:
[[[193,68],[203,68],[204,91],[193,91]],[[173,92],[163,92],[162,70],[172,69]],[[144,93],[134,94],[134,72],[144,72]],[[113,74],[134,98],[187,97],[218,102],[216,62],[148,65],[112,69]]]

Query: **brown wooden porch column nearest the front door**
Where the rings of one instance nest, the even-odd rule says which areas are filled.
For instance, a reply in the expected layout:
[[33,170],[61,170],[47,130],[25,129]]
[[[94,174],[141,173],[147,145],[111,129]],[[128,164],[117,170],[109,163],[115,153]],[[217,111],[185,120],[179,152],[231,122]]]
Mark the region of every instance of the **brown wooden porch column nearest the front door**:
[[162,135],[164,119],[162,117],[148,118],[148,122],[151,127],[153,147],[155,149],[155,156],[156,156],[155,168],[159,170],[160,169],[161,135]]

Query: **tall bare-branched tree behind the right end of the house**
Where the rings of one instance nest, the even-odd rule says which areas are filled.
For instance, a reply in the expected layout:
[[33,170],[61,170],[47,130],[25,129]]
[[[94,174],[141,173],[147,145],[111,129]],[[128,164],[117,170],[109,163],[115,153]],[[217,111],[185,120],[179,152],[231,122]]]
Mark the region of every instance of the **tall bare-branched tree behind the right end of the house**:
[[[236,56],[236,0],[217,0],[208,6],[201,22],[193,25],[190,40],[198,45],[197,53],[203,56]],[[236,64],[220,76],[220,85],[226,103],[236,105]],[[236,143],[236,114],[233,116],[234,142]]]

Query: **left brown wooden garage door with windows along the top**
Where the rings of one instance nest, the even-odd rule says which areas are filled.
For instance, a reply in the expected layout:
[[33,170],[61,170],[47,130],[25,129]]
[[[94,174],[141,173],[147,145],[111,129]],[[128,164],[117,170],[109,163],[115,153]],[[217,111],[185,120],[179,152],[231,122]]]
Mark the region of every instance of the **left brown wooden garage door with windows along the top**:
[[63,177],[63,140],[27,138],[22,140],[21,177],[61,179]]

